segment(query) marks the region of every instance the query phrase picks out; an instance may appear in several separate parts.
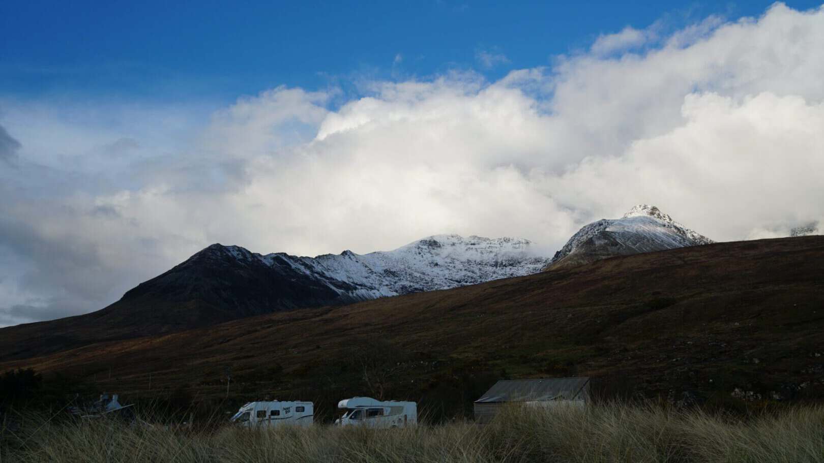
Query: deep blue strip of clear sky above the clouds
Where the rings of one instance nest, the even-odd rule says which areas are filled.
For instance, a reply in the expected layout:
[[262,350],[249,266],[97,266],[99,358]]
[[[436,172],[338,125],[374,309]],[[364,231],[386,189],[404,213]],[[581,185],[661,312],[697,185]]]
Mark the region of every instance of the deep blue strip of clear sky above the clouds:
[[[747,2],[2,2],[0,92],[232,101],[287,85],[426,78],[473,68],[489,79],[588,49],[600,34],[710,15]],[[816,2],[790,1],[808,9]],[[482,56],[492,57],[486,63]],[[497,57],[498,59],[496,59]],[[505,57],[505,58],[504,58]]]

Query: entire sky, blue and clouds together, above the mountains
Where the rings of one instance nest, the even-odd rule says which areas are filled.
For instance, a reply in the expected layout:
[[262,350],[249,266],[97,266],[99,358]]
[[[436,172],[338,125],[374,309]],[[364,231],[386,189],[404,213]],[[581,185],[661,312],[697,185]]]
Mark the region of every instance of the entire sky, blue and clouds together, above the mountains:
[[5,2],[0,326],[215,242],[318,255],[652,203],[716,241],[824,223],[815,2]]

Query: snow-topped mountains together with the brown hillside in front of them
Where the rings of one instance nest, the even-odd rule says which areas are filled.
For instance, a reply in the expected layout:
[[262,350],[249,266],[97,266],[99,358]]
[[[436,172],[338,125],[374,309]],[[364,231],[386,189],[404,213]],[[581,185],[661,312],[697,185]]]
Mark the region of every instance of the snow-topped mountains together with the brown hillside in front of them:
[[510,375],[679,400],[824,396],[824,237],[713,243],[639,205],[552,259],[533,247],[436,235],[310,258],[215,244],[100,311],[0,329],[0,372],[218,400],[231,366],[238,401],[334,409],[364,393],[368,355],[391,362],[393,396],[444,414]]

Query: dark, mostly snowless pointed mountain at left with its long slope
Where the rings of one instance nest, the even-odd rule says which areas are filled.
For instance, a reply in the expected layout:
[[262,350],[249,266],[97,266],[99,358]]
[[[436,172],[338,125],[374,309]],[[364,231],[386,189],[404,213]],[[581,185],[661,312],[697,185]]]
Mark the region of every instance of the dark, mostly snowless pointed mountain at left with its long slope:
[[[338,282],[346,289],[345,283]],[[0,330],[0,358],[165,334],[279,310],[356,302],[288,265],[240,260],[219,244],[126,292],[100,311]]]

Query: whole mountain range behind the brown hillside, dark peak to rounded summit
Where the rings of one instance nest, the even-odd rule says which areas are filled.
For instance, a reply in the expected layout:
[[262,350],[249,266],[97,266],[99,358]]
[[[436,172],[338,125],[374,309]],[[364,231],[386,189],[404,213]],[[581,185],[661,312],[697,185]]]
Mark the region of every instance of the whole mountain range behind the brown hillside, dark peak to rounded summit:
[[[138,284],[110,306],[82,316],[0,330],[7,358],[101,340],[174,333],[276,311],[340,306],[379,297],[485,283],[586,264],[616,255],[708,244],[654,206],[593,222],[553,259],[522,238],[434,235],[396,250],[358,255],[261,255],[213,244]],[[0,346],[2,347],[2,346]]]

